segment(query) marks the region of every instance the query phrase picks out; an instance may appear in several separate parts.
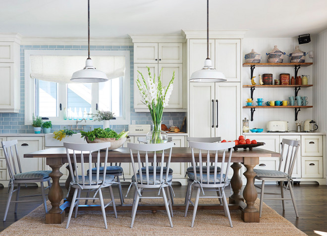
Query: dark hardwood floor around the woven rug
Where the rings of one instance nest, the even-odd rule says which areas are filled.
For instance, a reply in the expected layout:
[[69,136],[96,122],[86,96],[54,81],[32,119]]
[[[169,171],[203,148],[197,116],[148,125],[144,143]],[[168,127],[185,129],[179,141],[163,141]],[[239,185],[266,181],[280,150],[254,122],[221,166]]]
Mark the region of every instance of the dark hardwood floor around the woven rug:
[[[244,187],[244,186],[243,186]],[[63,188],[64,194],[67,190]],[[116,187],[113,187],[116,188]],[[126,193],[128,186],[123,186],[123,192]],[[186,186],[173,186],[176,197],[185,197]],[[279,192],[279,186],[266,185],[266,191]],[[132,191],[131,191],[132,192]],[[287,194],[289,191],[287,191]],[[21,189],[21,195],[23,194],[38,194],[41,193],[40,188],[28,187]],[[114,189],[115,198],[118,198],[118,191]],[[229,188],[226,188],[226,195],[230,195]],[[265,202],[272,207],[278,214],[285,217],[298,229],[303,231],[309,236],[317,236],[313,231],[327,232],[327,186],[318,185],[294,185],[294,195],[296,198],[296,204],[298,207],[300,217],[297,219],[295,216],[294,208],[291,200],[285,201],[285,212],[282,210],[281,201],[278,200],[266,200]],[[7,220],[2,221],[4,215],[4,209],[8,197],[8,189],[0,188],[0,231],[11,225],[13,222],[21,219],[29,212],[34,210],[42,202],[28,202],[19,203],[17,213],[14,214],[14,204],[9,207]],[[132,197],[129,193],[128,197]]]

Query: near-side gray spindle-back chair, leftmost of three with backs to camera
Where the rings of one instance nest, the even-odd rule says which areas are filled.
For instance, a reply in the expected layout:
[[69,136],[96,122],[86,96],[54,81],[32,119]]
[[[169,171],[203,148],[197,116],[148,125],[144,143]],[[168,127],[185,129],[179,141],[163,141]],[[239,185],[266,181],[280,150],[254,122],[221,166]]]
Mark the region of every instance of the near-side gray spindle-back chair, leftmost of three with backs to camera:
[[[101,206],[102,214],[103,214],[104,221],[105,221],[105,228],[108,229],[105,208],[110,203],[112,203],[114,215],[117,218],[116,205],[114,203],[113,192],[111,189],[111,185],[115,184],[114,176],[106,175],[107,161],[108,161],[108,147],[110,146],[110,142],[101,142],[101,143],[64,142],[63,146],[66,148],[68,165],[69,165],[69,170],[70,170],[71,178],[72,178],[69,189],[70,188],[75,189],[73,199],[70,204],[66,229],[69,226],[69,222],[70,222],[71,215],[73,213],[74,208],[75,208],[75,218],[77,217],[77,211],[78,211],[80,199],[89,199],[89,200],[90,199],[92,199],[92,200],[100,199],[100,206]],[[105,166],[104,166],[104,171],[103,171],[102,175],[100,175],[100,150],[101,149],[106,149]],[[71,159],[70,159],[70,154],[69,154],[70,150],[73,150],[73,163],[71,162]],[[80,160],[81,160],[81,164],[82,164],[81,165],[81,172],[82,172],[81,176],[79,176],[77,173],[76,152],[81,153],[80,154]],[[95,154],[97,154],[97,156],[96,156],[97,173],[96,173],[96,175],[93,175],[92,171],[91,171],[88,173],[88,175],[85,175],[86,171],[84,170],[84,163],[88,164],[89,169],[91,169],[91,167],[92,167],[92,152],[93,152],[93,156],[95,156]],[[95,158],[95,157],[93,157],[93,158]],[[73,171],[72,165],[74,165],[74,167],[75,167],[74,171]],[[105,205],[101,189],[106,188],[106,187],[109,187],[111,201],[109,201],[109,203],[107,203]],[[93,191],[95,191],[95,194],[93,197],[80,197],[82,190],[86,190],[88,192],[90,190],[93,190]],[[96,197],[97,194],[99,194],[99,197]]]

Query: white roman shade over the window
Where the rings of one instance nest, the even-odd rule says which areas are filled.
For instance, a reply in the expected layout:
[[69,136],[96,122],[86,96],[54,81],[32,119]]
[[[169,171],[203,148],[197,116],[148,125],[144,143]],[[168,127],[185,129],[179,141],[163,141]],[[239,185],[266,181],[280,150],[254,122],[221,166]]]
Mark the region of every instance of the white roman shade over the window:
[[[93,64],[108,79],[125,75],[125,56],[92,56]],[[85,55],[30,55],[32,79],[69,84],[71,75],[85,66]]]

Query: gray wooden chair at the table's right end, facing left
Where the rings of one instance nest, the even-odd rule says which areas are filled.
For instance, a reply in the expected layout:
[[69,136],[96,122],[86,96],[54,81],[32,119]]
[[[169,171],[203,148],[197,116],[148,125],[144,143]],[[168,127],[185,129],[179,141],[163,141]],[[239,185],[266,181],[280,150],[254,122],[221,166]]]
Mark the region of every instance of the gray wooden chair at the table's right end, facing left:
[[[278,170],[261,170],[261,169],[253,169],[254,172],[257,173],[254,180],[261,180],[261,186],[255,185],[255,187],[261,189],[260,191],[260,217],[262,212],[262,203],[264,201],[264,194],[278,194],[281,195],[281,198],[265,198],[269,200],[281,200],[283,210],[285,210],[284,200],[292,200],[296,217],[299,217],[297,212],[295,198],[293,194],[293,180],[292,180],[292,172],[294,168],[294,164],[297,157],[297,152],[299,151],[300,141],[297,140],[288,140],[282,139],[281,141],[281,152],[279,159],[279,167]],[[283,163],[284,161],[284,163]],[[282,168],[282,165],[284,167]],[[264,192],[265,189],[265,181],[280,181],[280,193],[272,193],[272,192]],[[284,181],[287,182],[285,186]],[[291,198],[284,198],[283,189],[289,189]]]

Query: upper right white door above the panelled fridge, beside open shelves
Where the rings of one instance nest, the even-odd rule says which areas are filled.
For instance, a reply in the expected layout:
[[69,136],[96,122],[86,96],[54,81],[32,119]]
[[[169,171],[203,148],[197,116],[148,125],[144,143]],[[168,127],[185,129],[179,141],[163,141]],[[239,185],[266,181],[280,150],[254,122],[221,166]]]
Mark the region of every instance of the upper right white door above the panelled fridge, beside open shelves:
[[240,82],[241,61],[239,39],[219,39],[215,41],[215,67],[224,73],[228,82]]

